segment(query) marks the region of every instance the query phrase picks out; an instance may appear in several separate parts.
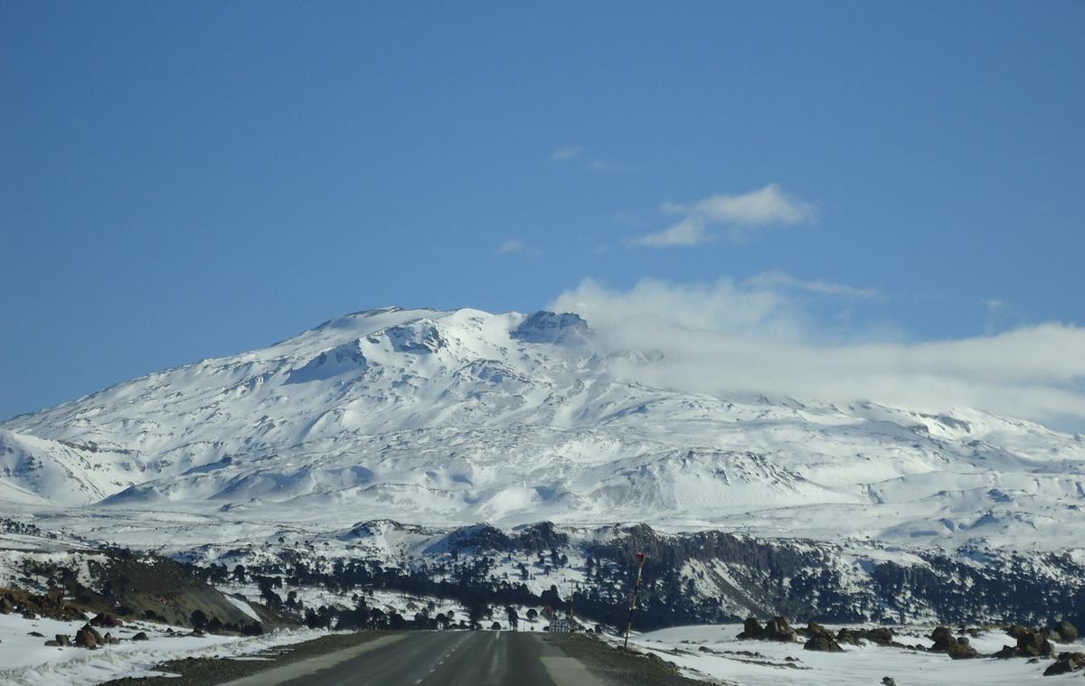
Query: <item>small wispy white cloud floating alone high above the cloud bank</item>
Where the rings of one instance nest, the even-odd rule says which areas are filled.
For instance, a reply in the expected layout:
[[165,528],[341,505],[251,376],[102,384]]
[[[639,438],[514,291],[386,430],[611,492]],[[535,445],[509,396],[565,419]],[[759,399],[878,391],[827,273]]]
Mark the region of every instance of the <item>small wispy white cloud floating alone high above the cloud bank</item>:
[[[635,239],[634,244],[651,247],[698,245],[720,236],[741,242],[767,227],[801,224],[814,218],[814,205],[789,196],[777,183],[739,195],[710,195],[690,204],[666,202],[660,211],[681,218],[662,231]],[[722,230],[710,231],[715,226]]]

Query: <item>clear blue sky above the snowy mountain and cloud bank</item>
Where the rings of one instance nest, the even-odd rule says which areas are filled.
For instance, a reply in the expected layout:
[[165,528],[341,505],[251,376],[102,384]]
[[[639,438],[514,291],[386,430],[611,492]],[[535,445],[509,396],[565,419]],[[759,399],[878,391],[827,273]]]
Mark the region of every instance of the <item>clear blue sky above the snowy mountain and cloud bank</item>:
[[769,290],[826,340],[1076,331],[1083,25],[4,0],[0,418],[349,310],[532,310],[585,279]]

